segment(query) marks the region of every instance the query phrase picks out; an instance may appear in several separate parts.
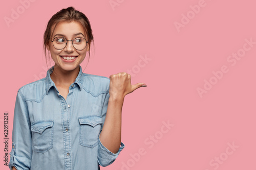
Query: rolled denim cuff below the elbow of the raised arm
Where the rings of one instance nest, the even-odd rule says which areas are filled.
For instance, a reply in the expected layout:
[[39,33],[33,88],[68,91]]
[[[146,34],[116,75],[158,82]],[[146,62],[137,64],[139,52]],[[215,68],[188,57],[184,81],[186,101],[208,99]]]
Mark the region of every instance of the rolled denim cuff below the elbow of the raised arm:
[[98,137],[98,162],[100,166],[108,166],[110,164],[112,164],[117,156],[119,155],[119,153],[123,150],[124,148],[124,144],[121,142],[121,146],[118,150],[117,153],[113,153],[110,150],[108,150],[107,148],[104,147],[104,145],[101,143],[99,137]]

